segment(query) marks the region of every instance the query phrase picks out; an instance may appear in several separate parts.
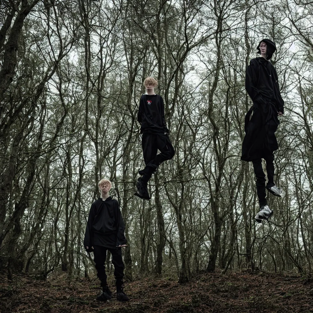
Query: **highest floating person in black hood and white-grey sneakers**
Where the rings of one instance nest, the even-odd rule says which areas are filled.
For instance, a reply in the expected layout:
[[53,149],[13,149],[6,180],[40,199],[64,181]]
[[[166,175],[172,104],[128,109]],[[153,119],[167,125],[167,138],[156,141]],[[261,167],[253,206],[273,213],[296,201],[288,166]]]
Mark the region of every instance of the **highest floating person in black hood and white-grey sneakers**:
[[[241,159],[253,163],[260,205],[260,211],[254,219],[262,223],[263,219],[267,220],[273,214],[265,198],[266,189],[273,195],[281,197],[280,190],[274,182],[274,151],[278,149],[275,131],[280,123],[278,116],[284,113],[284,100],[280,95],[275,67],[269,61],[276,50],[275,43],[270,39],[263,39],[257,49],[261,56],[252,59],[246,70],[245,87],[253,106],[245,116],[246,134]],[[266,162],[268,179],[266,186],[262,159]]]

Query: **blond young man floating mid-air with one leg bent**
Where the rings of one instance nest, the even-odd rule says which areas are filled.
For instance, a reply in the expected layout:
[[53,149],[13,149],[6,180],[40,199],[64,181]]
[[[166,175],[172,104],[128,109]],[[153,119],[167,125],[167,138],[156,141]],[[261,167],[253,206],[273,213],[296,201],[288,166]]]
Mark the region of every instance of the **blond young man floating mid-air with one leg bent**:
[[147,94],[140,98],[137,119],[141,124],[141,144],[146,167],[138,172],[142,177],[139,177],[136,182],[135,195],[149,200],[151,199],[147,189],[149,179],[162,162],[172,159],[175,151],[168,136],[163,99],[154,92],[157,81],[153,77],[147,77],[143,85]]

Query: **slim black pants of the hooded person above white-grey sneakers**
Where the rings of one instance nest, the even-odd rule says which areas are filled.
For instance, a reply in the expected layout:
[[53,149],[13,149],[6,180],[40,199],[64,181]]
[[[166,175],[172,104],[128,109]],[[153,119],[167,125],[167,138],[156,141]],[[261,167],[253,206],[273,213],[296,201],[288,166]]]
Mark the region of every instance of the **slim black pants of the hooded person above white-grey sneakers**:
[[[275,185],[274,183],[274,155],[271,154],[264,158],[266,162],[266,172],[267,172],[267,185],[266,187],[270,188]],[[267,204],[266,202],[266,193],[265,193],[265,174],[262,168],[262,159],[253,160],[254,174],[256,177],[256,191],[259,198],[260,207]]]

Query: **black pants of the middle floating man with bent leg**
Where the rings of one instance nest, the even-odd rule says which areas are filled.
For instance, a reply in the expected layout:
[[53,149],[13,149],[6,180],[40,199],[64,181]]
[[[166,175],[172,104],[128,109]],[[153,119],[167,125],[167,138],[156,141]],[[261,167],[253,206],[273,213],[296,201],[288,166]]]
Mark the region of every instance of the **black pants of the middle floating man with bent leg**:
[[[167,135],[149,133],[142,134],[142,150],[143,159],[146,163],[142,182],[147,183],[152,173],[156,171],[162,162],[172,159],[175,155],[175,150]],[[158,150],[161,153],[157,154]]]

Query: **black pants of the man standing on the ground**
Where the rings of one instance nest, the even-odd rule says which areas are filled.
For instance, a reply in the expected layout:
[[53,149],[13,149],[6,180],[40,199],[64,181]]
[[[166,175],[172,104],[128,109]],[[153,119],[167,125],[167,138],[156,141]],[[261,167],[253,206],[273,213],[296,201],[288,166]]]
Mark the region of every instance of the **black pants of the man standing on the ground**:
[[106,251],[109,250],[112,254],[112,264],[114,265],[114,276],[116,281],[122,280],[124,277],[124,263],[122,259],[122,248],[105,248],[94,246],[94,261],[97,270],[97,276],[101,281],[101,287],[106,285],[105,259]]

